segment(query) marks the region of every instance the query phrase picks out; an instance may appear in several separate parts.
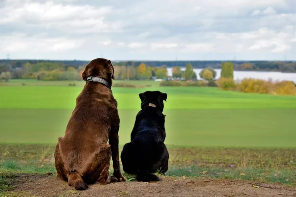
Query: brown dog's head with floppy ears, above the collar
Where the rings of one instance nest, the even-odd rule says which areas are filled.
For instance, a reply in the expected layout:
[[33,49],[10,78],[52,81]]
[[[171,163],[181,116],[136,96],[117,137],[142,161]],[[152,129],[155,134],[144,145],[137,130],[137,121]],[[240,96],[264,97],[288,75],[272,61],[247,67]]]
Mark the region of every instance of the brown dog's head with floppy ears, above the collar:
[[112,79],[115,79],[115,73],[111,61],[104,58],[97,58],[90,61],[85,66],[82,78],[86,81],[89,76],[100,77],[112,84]]

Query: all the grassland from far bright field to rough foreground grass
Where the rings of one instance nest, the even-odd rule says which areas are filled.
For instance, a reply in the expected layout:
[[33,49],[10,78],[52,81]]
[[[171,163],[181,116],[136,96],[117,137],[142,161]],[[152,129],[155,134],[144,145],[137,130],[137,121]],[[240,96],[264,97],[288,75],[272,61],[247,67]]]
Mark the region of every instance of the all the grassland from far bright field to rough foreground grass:
[[[70,87],[69,83],[76,86]],[[112,88],[121,120],[121,148],[130,140],[140,110],[138,94],[146,90],[168,94],[164,110],[165,143],[170,153],[167,176],[296,185],[295,96],[245,94],[208,87],[159,87],[159,82],[147,81],[124,83],[138,88]],[[56,173],[54,147],[57,138],[64,135],[75,99],[85,83],[11,80],[3,84],[1,191],[12,189],[9,176],[16,173]],[[134,179],[125,176],[129,181]]]

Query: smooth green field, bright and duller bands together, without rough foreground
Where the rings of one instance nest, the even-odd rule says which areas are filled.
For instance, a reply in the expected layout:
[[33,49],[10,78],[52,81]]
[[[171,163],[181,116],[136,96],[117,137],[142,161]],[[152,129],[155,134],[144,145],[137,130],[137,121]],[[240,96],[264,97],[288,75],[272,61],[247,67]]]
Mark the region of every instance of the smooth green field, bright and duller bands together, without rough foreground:
[[[122,82],[122,81],[121,81]],[[56,143],[63,136],[84,82],[11,80],[0,86],[0,142]],[[116,81],[120,83],[120,81]],[[178,146],[295,147],[296,97],[245,94],[209,87],[112,88],[118,101],[120,144],[129,141],[140,109],[138,94],[160,90],[166,144]],[[25,85],[22,85],[25,84]]]

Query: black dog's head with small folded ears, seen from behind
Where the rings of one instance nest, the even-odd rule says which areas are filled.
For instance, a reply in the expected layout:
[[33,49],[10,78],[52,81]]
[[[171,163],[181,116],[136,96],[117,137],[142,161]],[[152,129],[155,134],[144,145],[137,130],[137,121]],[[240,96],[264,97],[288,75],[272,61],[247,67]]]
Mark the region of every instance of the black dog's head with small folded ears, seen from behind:
[[144,93],[140,93],[139,97],[141,99],[141,109],[145,107],[155,107],[163,111],[163,101],[166,101],[167,94],[162,93],[160,91],[146,91]]

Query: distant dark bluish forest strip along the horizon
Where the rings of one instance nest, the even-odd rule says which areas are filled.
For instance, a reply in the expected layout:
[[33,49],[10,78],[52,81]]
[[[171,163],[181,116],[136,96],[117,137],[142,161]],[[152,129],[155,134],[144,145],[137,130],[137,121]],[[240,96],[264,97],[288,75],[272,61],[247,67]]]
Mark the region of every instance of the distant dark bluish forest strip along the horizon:
[[[21,68],[24,64],[36,64],[42,62],[61,63],[65,66],[71,66],[78,69],[79,66],[85,66],[89,61],[82,60],[10,60],[2,59],[1,64],[8,65],[12,69]],[[232,62],[234,70],[241,71],[279,71],[279,72],[296,72],[296,61],[112,61],[114,66],[133,66],[137,67],[144,63],[148,67],[185,67],[191,64],[193,68],[212,67],[220,69],[222,62]]]

